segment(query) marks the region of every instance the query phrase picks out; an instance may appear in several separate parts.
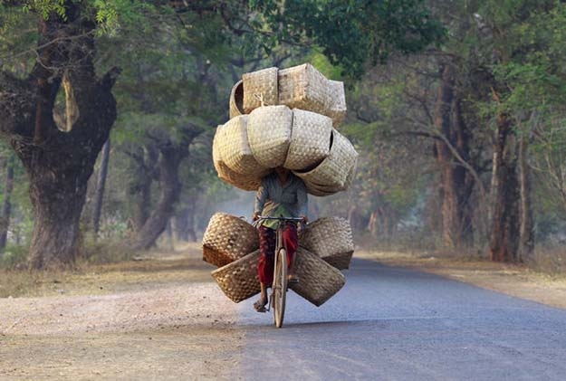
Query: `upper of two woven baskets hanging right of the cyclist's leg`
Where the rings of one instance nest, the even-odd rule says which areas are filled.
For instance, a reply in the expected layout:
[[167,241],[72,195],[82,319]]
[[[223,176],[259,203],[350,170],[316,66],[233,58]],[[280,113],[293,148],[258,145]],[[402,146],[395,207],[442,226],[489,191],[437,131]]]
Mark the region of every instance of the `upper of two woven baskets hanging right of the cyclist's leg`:
[[323,217],[308,224],[299,245],[339,270],[350,268],[354,242],[350,223],[341,217]]

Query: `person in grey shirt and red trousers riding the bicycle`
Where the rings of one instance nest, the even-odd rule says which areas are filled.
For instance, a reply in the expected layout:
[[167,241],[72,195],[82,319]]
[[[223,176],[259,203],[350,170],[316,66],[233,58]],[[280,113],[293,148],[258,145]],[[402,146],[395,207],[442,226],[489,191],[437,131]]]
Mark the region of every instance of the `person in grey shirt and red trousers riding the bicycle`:
[[[276,167],[273,173],[265,176],[262,185],[255,194],[254,215],[256,221],[259,215],[270,217],[301,217],[302,223],[307,222],[308,199],[307,191],[302,179],[284,167]],[[255,301],[254,309],[265,312],[267,305],[267,287],[273,282],[273,258],[277,228],[276,220],[264,220],[258,226],[260,259],[257,264],[261,293],[259,300]],[[299,281],[293,274],[293,255],[297,250],[297,225],[293,222],[285,223],[283,230],[283,247],[287,252],[289,283]]]

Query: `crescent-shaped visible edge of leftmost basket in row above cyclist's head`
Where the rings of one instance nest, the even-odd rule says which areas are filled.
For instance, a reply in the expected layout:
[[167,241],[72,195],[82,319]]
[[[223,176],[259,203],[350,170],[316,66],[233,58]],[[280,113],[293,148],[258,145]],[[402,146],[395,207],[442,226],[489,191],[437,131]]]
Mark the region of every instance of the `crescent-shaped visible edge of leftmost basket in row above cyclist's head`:
[[255,174],[242,175],[235,172],[234,169],[228,167],[224,158],[222,157],[223,150],[226,141],[226,129],[225,125],[220,125],[216,128],[215,138],[212,143],[212,161],[216,169],[218,177],[232,186],[237,188],[252,191],[256,190],[262,183],[262,177],[264,176],[262,172]]

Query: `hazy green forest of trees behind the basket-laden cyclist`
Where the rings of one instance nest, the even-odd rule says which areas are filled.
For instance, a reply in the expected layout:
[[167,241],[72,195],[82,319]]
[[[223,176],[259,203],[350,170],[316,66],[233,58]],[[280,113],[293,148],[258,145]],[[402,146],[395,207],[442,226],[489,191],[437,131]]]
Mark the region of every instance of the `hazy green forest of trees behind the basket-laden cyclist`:
[[356,243],[566,270],[561,1],[0,1],[0,263],[198,241],[253,193],[211,146],[242,73],[344,81]]

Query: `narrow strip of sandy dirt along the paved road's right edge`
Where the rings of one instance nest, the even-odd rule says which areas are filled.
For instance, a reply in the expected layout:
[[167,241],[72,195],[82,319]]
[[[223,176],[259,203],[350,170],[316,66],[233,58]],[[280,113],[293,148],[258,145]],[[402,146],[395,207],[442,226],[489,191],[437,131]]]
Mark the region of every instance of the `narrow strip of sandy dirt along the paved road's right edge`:
[[484,289],[517,298],[566,309],[566,278],[532,271],[520,264],[490,262],[476,258],[410,254],[400,252],[357,251],[358,258],[379,261],[464,281]]

